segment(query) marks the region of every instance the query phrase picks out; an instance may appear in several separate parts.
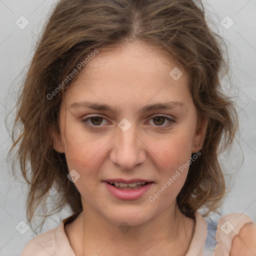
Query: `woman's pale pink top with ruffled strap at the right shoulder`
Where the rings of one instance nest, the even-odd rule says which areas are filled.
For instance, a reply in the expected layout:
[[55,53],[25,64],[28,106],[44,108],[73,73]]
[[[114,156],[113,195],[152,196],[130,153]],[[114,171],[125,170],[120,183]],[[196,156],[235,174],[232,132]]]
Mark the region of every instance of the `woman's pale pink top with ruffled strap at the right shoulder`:
[[[29,240],[21,256],[75,256],[64,231],[64,223],[72,216],[63,219],[57,227]],[[215,236],[217,245],[212,255],[228,256],[233,237],[239,233],[244,224],[250,222],[252,222],[250,217],[240,213],[227,214],[221,217]],[[185,256],[203,256],[206,236],[206,221],[196,211],[194,233]]]

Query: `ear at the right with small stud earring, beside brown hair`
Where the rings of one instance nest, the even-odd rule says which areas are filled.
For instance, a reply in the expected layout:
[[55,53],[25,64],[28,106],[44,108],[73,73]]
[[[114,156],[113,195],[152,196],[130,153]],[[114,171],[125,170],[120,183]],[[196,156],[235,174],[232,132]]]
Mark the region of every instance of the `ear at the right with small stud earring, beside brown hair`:
[[196,153],[202,148],[203,141],[208,127],[208,117],[198,117],[197,127],[193,138],[192,153]]

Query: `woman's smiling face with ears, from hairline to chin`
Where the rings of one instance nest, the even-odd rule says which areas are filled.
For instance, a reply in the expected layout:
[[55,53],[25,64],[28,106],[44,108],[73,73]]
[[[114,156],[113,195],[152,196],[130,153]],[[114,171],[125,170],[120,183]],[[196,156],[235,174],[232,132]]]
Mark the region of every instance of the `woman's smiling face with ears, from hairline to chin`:
[[170,73],[176,65],[161,53],[141,42],[99,51],[60,106],[54,148],[65,153],[83,208],[116,224],[174,205],[205,135],[186,72]]

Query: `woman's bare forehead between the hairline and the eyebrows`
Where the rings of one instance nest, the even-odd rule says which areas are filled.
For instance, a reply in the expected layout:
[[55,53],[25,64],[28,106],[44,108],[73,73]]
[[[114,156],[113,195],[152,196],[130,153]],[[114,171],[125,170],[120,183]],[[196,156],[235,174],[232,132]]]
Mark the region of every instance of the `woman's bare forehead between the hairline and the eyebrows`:
[[165,51],[144,43],[99,50],[77,76],[66,95],[76,101],[85,97],[102,102],[108,98],[108,104],[121,99],[143,103],[179,101],[189,96],[182,67],[170,61]]

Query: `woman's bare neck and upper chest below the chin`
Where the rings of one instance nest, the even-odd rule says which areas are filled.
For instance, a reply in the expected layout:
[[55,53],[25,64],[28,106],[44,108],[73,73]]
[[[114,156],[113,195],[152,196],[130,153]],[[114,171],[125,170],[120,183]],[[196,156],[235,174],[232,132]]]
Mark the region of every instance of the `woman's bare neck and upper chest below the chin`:
[[113,224],[88,205],[83,208],[86,211],[78,216],[83,230],[76,255],[184,255],[194,231],[194,220],[185,217],[176,202],[149,221],[126,227]]

